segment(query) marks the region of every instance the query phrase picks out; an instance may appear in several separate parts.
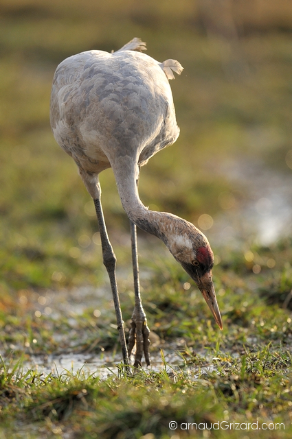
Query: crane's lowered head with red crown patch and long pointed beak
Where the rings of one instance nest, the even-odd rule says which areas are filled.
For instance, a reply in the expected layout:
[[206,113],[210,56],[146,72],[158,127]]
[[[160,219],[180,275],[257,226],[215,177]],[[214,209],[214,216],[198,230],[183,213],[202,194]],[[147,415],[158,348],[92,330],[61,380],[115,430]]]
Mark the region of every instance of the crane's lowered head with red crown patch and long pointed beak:
[[222,329],[221,313],[212,281],[214,255],[210,244],[205,235],[193,224],[184,220],[181,221],[179,227],[172,228],[166,233],[168,235],[166,245],[173,257],[199,287],[218,327]]

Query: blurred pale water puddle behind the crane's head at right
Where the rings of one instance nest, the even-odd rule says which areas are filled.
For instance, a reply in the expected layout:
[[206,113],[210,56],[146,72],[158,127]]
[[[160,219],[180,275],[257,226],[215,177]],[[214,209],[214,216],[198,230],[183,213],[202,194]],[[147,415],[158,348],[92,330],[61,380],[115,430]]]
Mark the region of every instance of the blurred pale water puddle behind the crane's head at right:
[[[246,198],[236,200],[234,194],[223,193],[223,212],[216,216],[214,226],[207,230],[216,245],[229,246],[249,237],[259,244],[272,244],[292,230],[292,173],[280,173],[246,159],[221,169],[234,187],[243,187]],[[240,197],[239,197],[240,198]]]

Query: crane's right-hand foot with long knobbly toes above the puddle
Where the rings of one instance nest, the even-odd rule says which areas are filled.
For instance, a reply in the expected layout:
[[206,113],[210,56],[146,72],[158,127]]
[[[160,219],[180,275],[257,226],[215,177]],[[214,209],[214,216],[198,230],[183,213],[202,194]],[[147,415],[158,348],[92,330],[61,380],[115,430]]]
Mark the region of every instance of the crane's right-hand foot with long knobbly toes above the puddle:
[[150,329],[147,326],[147,319],[143,309],[134,309],[130,335],[128,337],[128,356],[130,357],[133,347],[136,344],[134,367],[142,367],[142,356],[144,353],[146,365],[150,366],[149,345],[148,339]]

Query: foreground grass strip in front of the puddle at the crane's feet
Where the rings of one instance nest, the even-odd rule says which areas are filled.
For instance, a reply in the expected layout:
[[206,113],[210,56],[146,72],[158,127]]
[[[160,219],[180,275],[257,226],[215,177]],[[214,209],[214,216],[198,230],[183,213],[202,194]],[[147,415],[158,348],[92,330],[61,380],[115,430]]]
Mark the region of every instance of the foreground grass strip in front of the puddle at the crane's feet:
[[[258,427],[261,431],[256,434],[264,438],[267,432],[262,428],[269,425],[273,437],[288,438],[291,354],[284,349],[271,353],[269,347],[256,353],[247,351],[236,360],[218,351],[213,360],[216,373],[199,372],[199,379],[183,370],[173,372],[167,364],[161,372],[141,370],[133,377],[113,376],[100,381],[82,370],[55,377],[43,377],[32,370],[24,374],[20,362],[8,372],[3,362],[2,425],[9,425],[14,416],[21,419],[28,415],[38,431],[32,438],[38,434],[61,438],[68,431],[80,438],[167,438],[174,421],[179,437],[194,433],[206,437],[207,433],[207,437],[224,438],[229,426],[231,437],[241,437],[247,429],[248,434],[254,434],[252,429]],[[192,423],[201,427],[192,431],[186,427]],[[248,423],[253,427],[247,427]],[[238,425],[241,433],[234,431]],[[13,437],[22,437],[22,428],[18,426]],[[3,434],[6,437],[5,427]]]

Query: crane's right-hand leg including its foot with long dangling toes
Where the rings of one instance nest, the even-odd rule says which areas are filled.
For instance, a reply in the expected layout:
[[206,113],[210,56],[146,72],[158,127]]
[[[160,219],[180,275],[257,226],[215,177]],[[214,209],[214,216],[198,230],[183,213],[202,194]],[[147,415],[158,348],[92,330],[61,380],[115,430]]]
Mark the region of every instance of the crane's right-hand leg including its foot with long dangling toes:
[[135,308],[132,315],[131,330],[128,338],[128,355],[131,355],[132,349],[136,342],[136,353],[134,366],[137,368],[142,366],[142,355],[145,355],[146,365],[150,365],[149,358],[149,344],[148,336],[150,330],[147,326],[147,319],[144,309],[142,307],[142,300],[140,296],[139,285],[139,265],[137,252],[137,229],[133,222],[130,221],[131,226],[131,241],[132,241],[132,262],[133,262],[133,276],[134,276],[134,290],[135,290]]

